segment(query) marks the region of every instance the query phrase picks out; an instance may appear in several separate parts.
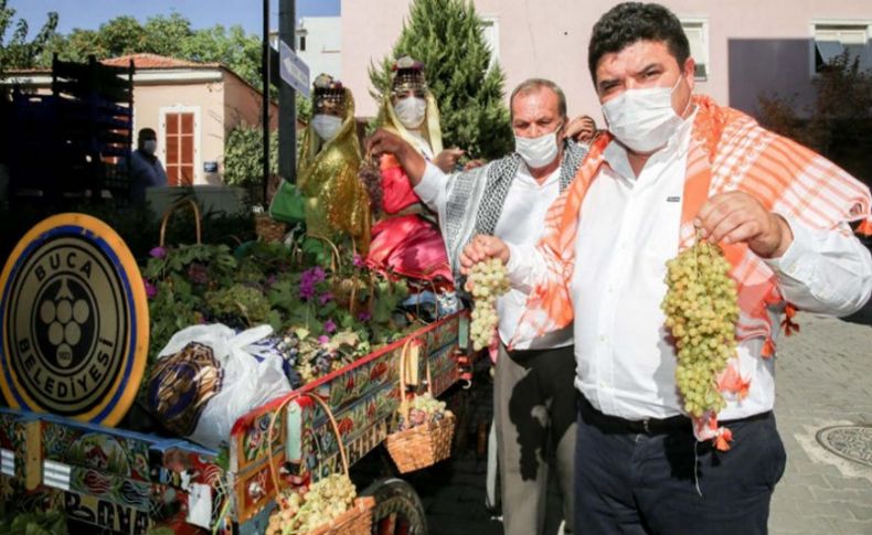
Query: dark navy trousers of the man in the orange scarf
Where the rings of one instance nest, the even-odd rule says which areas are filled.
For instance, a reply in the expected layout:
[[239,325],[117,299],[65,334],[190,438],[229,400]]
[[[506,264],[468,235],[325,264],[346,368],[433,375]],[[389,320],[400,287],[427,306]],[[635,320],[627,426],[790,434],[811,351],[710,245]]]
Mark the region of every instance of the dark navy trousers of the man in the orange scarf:
[[576,533],[767,533],[787,460],[772,413],[725,422],[733,441],[717,451],[711,441],[698,443],[689,427],[646,434],[605,425],[578,397]]

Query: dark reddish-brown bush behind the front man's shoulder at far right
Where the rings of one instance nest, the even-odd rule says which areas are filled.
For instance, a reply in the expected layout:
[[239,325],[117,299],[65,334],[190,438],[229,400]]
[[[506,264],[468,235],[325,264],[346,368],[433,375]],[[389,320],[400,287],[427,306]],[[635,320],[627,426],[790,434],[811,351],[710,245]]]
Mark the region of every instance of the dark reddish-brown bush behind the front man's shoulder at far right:
[[872,69],[862,69],[859,57],[846,51],[825,65],[813,85],[815,101],[805,110],[797,109],[796,96],[758,96],[761,125],[872,184]]

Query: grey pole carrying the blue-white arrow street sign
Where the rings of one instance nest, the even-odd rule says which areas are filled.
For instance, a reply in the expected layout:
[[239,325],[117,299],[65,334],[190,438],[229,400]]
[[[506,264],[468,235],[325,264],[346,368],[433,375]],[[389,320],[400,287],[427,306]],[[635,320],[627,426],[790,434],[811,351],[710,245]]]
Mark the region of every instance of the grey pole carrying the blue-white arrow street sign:
[[[297,49],[296,0],[278,0],[278,39]],[[279,45],[280,47],[280,45]],[[297,182],[297,103],[295,90],[280,81],[278,89],[278,174]]]

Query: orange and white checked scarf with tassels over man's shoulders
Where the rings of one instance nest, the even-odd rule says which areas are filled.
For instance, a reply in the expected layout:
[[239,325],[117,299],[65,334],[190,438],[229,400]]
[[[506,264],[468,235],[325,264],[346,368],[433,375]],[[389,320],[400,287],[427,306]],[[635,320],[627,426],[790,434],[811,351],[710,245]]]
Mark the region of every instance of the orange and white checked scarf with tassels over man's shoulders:
[[[843,223],[861,221],[858,232],[872,234],[869,188],[811,150],[762,128],[747,115],[694,96],[698,107],[688,151],[679,249],[693,245],[693,220],[713,195],[740,190],[754,195],[766,210],[812,228],[844,231]],[[575,270],[575,240],[584,196],[599,175],[604,151],[613,138],[599,136],[575,175],[574,182],[549,208],[539,250],[547,267],[546,279],[530,293],[512,344],[561,329],[573,320],[570,282]],[[773,270],[746,244],[721,244],[738,289],[740,318],[736,338],[766,339],[763,356],[775,351],[767,310],[783,307],[786,329],[793,327],[795,308],[784,300]],[[748,382],[742,379],[736,359],[719,377],[724,394],[744,397]],[[699,440],[714,439],[729,449],[729,429],[719,427],[716,414],[694,419]]]

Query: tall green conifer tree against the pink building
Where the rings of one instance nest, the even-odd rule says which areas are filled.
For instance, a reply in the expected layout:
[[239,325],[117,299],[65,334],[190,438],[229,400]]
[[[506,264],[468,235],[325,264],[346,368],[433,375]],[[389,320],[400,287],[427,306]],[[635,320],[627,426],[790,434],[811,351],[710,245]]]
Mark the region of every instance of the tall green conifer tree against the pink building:
[[373,97],[390,87],[395,57],[424,62],[427,83],[439,103],[445,146],[471,157],[499,158],[511,148],[509,110],[502,103],[506,76],[490,65],[482,21],[465,0],[415,0],[393,49],[379,66],[370,65]]

